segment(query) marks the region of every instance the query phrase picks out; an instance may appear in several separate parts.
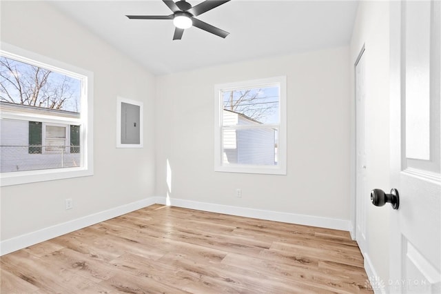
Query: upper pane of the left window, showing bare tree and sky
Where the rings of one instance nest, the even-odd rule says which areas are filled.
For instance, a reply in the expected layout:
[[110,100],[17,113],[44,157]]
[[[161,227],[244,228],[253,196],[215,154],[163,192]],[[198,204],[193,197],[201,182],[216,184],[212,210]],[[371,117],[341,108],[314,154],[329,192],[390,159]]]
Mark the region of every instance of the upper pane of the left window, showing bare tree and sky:
[[0,79],[0,101],[81,112],[80,79],[8,57],[0,57]]

